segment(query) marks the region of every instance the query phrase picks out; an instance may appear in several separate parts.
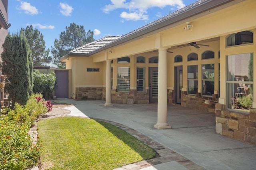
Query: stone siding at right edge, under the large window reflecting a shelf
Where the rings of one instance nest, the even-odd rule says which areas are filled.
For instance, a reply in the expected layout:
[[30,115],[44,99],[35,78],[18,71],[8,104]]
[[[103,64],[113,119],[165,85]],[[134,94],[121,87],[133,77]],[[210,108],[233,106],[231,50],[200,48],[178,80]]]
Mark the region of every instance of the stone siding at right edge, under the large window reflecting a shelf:
[[227,111],[226,106],[219,103],[215,108],[217,134],[256,144],[256,109],[246,114]]

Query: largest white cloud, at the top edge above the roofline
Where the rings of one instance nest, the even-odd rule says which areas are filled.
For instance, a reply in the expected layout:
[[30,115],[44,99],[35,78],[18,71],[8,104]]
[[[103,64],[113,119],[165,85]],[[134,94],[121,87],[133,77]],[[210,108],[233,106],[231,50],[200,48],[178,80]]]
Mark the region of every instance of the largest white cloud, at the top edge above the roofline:
[[185,4],[182,0],[111,0],[112,4],[104,7],[103,12],[109,13],[116,9],[125,9],[127,12],[120,14],[125,20],[148,20],[146,15],[149,8],[172,6],[177,9],[183,8]]

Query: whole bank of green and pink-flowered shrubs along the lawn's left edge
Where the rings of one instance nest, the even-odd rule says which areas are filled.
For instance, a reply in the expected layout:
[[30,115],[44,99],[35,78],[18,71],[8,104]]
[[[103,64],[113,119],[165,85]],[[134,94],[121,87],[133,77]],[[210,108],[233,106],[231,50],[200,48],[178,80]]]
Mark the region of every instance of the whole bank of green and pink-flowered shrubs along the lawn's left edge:
[[31,124],[40,115],[51,111],[50,101],[42,94],[32,94],[25,106],[14,104],[0,115],[0,170],[23,170],[35,165],[40,156],[40,144],[32,144],[28,134]]

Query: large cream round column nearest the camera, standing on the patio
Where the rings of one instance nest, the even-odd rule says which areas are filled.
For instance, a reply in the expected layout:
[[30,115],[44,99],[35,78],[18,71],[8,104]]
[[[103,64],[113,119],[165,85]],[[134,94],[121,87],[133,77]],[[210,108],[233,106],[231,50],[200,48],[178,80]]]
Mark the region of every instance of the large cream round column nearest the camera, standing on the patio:
[[167,123],[167,49],[158,49],[158,102],[155,128],[171,128]]

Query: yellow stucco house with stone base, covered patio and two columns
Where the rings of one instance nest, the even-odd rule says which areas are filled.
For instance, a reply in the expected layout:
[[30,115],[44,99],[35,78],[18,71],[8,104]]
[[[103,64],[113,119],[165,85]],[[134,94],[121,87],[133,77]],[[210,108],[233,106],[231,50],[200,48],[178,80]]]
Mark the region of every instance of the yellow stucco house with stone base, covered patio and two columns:
[[199,0],[74,49],[60,59],[72,70],[69,97],[158,102],[159,129],[170,128],[167,104],[180,103],[215,112],[218,134],[256,144],[255,9],[255,0]]

